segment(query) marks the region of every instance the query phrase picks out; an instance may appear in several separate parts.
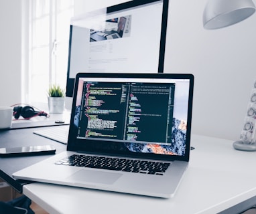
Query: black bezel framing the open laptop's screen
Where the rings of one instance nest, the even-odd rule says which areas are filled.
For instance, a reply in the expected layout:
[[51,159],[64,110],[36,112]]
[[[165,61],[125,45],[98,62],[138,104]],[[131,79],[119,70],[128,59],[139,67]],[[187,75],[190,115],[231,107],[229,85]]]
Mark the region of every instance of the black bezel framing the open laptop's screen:
[[[153,153],[143,153],[143,152],[121,152],[115,150],[115,152],[104,148],[102,146],[94,146],[94,140],[88,139],[78,139],[77,128],[74,126],[74,116],[76,109],[76,94],[78,91],[78,80],[80,78],[169,78],[169,79],[187,79],[190,81],[189,84],[189,96],[188,96],[188,118],[187,118],[187,130],[186,130],[186,150],[184,156],[170,155],[170,154],[153,154]],[[76,152],[86,152],[92,154],[104,154],[111,156],[127,156],[133,158],[147,158],[156,160],[184,160],[188,161],[190,156],[190,135],[191,135],[191,122],[192,122],[192,98],[193,98],[193,88],[194,88],[194,76],[192,74],[117,74],[117,73],[78,73],[76,75],[75,87],[74,87],[74,97],[72,102],[72,112],[70,117],[70,131],[68,136],[68,146],[67,150]],[[118,145],[119,142],[107,142],[111,143],[113,146]],[[98,145],[105,145],[106,141],[97,140]],[[106,146],[107,147],[107,146]]]

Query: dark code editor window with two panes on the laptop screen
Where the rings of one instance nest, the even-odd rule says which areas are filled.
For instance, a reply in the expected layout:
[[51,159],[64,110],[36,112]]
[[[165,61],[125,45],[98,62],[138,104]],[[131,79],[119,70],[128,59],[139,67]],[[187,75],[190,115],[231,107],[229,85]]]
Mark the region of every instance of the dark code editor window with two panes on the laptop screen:
[[80,138],[170,143],[174,84],[84,83]]

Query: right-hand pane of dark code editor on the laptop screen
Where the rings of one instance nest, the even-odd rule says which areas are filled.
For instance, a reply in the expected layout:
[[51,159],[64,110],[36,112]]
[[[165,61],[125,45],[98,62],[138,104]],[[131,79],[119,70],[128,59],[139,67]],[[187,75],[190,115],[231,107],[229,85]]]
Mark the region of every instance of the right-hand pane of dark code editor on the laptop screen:
[[172,134],[174,86],[135,84],[129,94],[127,140],[166,142]]

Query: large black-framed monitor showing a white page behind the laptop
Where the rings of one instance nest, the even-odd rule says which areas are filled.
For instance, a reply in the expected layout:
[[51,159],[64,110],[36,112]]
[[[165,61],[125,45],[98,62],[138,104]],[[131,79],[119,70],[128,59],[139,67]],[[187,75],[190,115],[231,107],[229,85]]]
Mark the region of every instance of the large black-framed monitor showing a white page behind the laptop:
[[129,1],[74,17],[66,96],[78,72],[162,73],[168,0]]

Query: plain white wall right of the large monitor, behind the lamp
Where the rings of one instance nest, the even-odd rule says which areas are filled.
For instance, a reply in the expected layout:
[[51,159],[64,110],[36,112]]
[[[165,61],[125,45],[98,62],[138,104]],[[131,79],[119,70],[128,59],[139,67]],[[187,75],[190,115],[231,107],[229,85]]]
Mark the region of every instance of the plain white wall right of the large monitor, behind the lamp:
[[209,31],[205,4],[170,1],[164,70],[195,76],[192,132],[237,140],[256,80],[256,14]]

